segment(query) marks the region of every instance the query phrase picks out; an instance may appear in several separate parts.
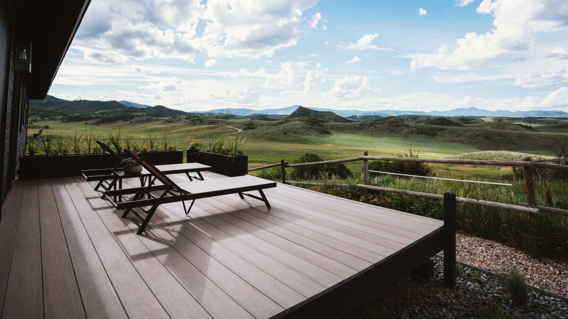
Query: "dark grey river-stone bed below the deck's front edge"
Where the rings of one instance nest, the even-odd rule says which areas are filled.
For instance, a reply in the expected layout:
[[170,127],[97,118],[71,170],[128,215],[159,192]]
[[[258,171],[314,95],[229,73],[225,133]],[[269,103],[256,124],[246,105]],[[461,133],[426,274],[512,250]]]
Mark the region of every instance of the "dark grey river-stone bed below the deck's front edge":
[[[517,307],[499,279],[464,268],[454,289],[444,288],[444,261],[432,258],[434,276],[403,278],[385,295],[350,313],[348,318],[537,318],[568,319],[568,304],[530,292],[528,307]],[[489,299],[497,309],[488,312]]]

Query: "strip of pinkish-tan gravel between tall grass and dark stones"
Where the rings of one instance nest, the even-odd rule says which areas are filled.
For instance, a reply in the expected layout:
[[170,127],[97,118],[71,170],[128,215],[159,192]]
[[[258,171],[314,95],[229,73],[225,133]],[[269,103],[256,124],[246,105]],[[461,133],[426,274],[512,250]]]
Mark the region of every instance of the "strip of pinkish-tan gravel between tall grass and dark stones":
[[568,297],[567,262],[535,259],[498,242],[459,233],[456,236],[456,259],[495,274],[516,266],[531,286]]

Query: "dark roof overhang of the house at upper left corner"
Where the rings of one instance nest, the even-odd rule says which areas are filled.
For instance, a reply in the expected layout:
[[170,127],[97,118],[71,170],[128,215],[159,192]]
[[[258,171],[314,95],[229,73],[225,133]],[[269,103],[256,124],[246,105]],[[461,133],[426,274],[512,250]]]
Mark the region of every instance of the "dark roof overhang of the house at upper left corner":
[[30,99],[44,99],[47,95],[89,3],[90,0],[11,1],[15,41],[33,45],[27,78]]

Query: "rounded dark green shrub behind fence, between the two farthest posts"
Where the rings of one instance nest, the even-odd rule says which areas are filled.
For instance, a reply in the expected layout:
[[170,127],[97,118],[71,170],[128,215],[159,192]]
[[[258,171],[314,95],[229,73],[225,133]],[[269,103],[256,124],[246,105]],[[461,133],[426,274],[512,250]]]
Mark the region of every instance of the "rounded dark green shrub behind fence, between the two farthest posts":
[[[319,157],[318,154],[306,153],[296,159],[293,163],[298,164],[321,161],[324,161],[324,159]],[[327,179],[331,177],[350,178],[353,177],[353,173],[351,173],[344,163],[297,166],[294,167],[292,173],[290,173],[291,179]]]

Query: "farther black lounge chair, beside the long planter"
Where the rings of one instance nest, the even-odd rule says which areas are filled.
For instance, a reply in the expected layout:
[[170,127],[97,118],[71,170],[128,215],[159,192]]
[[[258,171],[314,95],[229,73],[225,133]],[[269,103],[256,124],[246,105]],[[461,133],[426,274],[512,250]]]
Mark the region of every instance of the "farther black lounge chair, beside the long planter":
[[[81,174],[87,181],[99,181],[97,186],[95,186],[95,191],[99,189],[99,187],[104,188],[106,191],[111,190],[112,188],[116,189],[116,181],[119,182],[119,187],[122,188],[122,179],[128,177],[139,177],[140,178],[140,186],[144,186],[146,184],[146,178],[151,177],[148,171],[137,174],[135,176],[131,175],[124,175],[123,171],[118,169],[120,165],[120,161],[122,161],[122,157],[117,154],[114,150],[112,150],[108,145],[103,142],[97,141],[97,144],[101,146],[101,149],[105,150],[105,152],[111,154],[116,159],[118,159],[118,163],[112,169],[98,169],[98,170],[83,170]],[[199,181],[203,181],[203,175],[201,175],[201,171],[208,171],[211,170],[211,166],[203,165],[200,163],[180,163],[180,164],[169,164],[169,165],[158,165],[156,166],[158,170],[162,173],[169,175],[169,174],[179,174],[185,173],[187,178],[190,181],[193,181],[192,177],[195,179],[199,179]],[[197,173],[198,176],[190,175],[190,173]],[[110,181],[110,182],[108,182]],[[149,185],[152,184],[153,181],[149,180]],[[106,186],[105,186],[106,183]]]

